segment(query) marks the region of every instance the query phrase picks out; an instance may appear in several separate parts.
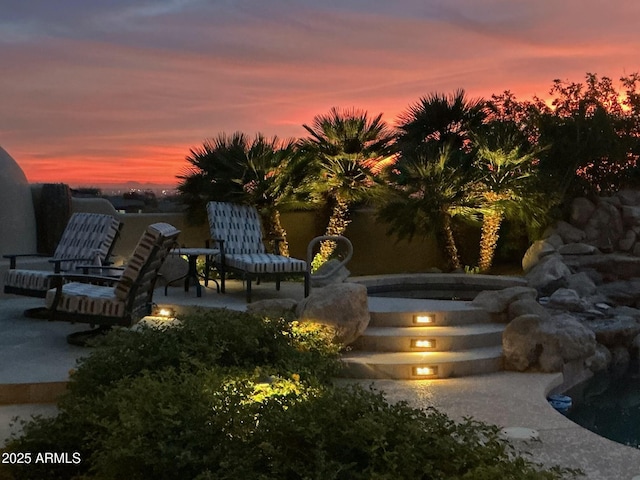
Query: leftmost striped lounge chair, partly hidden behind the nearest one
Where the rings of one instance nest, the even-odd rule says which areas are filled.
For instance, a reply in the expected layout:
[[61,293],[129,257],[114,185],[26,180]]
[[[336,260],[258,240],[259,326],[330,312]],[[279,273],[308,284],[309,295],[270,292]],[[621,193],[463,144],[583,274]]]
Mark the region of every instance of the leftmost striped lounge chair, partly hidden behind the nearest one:
[[17,268],[17,259],[46,257],[41,254],[4,255],[9,270],[4,277],[4,293],[44,298],[53,287],[56,273],[74,272],[80,265],[104,265],[108,262],[120,233],[120,220],[98,213],[74,213],[62,233],[58,246],[49,259],[51,270]]

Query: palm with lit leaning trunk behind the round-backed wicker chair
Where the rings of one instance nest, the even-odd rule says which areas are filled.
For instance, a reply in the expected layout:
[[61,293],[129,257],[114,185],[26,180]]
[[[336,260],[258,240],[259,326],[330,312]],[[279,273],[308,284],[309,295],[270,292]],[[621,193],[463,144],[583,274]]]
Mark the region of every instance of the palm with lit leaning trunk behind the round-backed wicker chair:
[[[382,114],[369,118],[365,111],[335,107],[303,127],[310,136],[300,143],[308,180],[301,190],[313,201],[328,204],[331,213],[325,234],[342,235],[350,222],[351,207],[371,194],[375,175],[389,155],[392,132]],[[314,268],[334,248],[333,242],[324,242]]]

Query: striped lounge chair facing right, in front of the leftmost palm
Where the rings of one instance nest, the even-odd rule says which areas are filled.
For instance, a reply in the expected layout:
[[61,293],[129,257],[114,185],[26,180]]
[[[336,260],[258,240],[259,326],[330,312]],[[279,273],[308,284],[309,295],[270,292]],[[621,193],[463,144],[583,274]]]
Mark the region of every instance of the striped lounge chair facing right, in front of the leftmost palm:
[[251,281],[269,275],[275,276],[277,290],[280,290],[282,275],[302,275],[304,296],[309,295],[307,262],[266,253],[260,217],[254,207],[209,202],[207,215],[214,246],[220,249],[215,258],[215,268],[220,274],[222,293],[225,292],[225,276],[231,271],[239,273],[247,282],[247,303],[251,302]]

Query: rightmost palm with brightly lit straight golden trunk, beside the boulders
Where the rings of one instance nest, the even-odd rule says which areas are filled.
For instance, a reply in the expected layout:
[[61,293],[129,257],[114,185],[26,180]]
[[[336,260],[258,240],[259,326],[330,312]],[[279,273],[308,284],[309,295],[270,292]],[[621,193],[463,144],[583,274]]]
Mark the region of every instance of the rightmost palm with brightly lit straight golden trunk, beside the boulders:
[[523,134],[511,122],[491,122],[476,135],[473,194],[482,213],[481,272],[491,268],[500,226],[505,218],[519,219],[529,228],[542,225],[552,199],[536,185],[538,155],[543,147],[529,147]]

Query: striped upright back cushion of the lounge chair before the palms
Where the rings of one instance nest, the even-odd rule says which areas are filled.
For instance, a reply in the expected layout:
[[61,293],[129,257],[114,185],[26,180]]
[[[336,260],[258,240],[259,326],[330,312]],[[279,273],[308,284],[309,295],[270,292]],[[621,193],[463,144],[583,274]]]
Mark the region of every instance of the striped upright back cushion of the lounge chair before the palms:
[[211,238],[224,240],[225,253],[265,253],[260,216],[254,207],[209,202],[207,216]]

